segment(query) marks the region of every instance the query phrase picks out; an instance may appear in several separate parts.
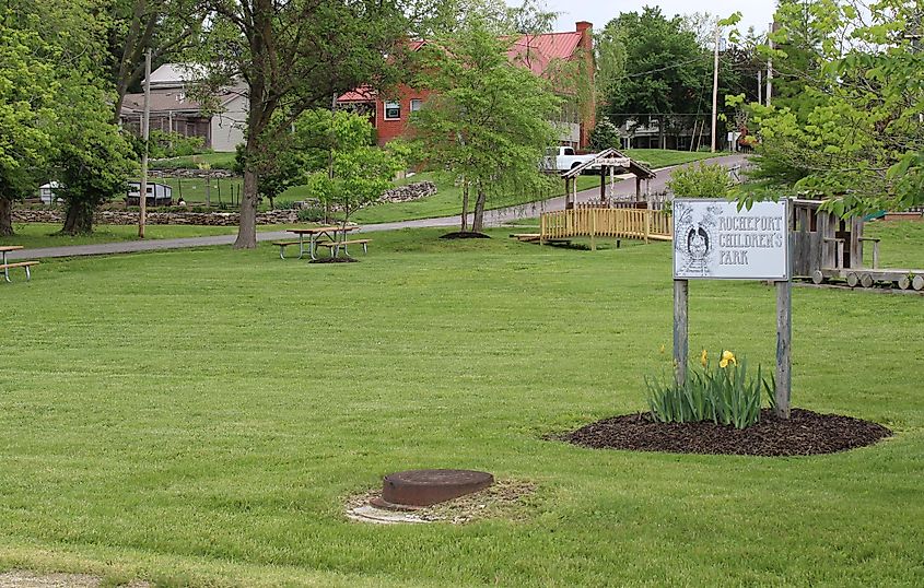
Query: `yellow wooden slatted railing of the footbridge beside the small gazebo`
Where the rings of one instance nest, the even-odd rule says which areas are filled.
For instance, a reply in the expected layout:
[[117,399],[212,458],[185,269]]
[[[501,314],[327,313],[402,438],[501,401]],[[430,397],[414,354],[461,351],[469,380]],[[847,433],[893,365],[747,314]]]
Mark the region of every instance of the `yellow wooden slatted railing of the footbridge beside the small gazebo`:
[[570,237],[672,240],[670,214],[663,211],[612,208],[577,208],[546,212],[539,217],[540,242]]

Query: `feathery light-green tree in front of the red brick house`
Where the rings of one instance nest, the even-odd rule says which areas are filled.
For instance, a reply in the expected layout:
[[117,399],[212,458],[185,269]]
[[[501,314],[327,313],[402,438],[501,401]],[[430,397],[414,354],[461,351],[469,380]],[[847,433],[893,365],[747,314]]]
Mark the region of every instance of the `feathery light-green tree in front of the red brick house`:
[[562,101],[548,80],[511,63],[511,43],[472,17],[421,50],[416,85],[433,94],[411,117],[411,128],[428,163],[463,186],[461,231],[468,228],[470,191],[471,230],[481,231],[489,197],[548,186],[539,162],[559,136],[549,121]]

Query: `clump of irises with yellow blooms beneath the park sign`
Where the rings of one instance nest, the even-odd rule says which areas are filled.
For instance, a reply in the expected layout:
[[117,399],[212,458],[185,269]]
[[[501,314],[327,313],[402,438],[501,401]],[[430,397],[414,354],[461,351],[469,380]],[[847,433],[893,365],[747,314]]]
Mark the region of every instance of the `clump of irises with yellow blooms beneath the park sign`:
[[690,366],[687,381],[677,386],[668,381],[645,378],[648,408],[652,416],[662,423],[698,423],[712,421],[722,425],[746,428],[760,421],[761,399],[775,405],[775,378],[768,380],[758,366],[757,376],[747,377],[747,362],[740,364],[735,355],[725,351],[718,365],[713,366],[703,351],[701,367]]

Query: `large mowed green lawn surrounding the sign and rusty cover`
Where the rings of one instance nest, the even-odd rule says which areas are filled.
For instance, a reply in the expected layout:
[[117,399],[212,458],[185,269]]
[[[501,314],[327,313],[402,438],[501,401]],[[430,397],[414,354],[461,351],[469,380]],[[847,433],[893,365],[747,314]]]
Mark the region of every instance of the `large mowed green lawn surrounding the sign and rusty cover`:
[[[924,267],[919,227],[885,227],[884,263]],[[0,284],[0,569],[197,586],[924,584],[924,298],[794,289],[795,404],[894,438],[787,459],[590,450],[542,436],[644,410],[643,376],[669,373],[669,245],[590,252],[506,233],[375,234],[361,263],[336,266],[269,246],[50,261]],[[772,365],[772,289],[690,290],[692,350]],[[347,496],[409,468],[537,491],[516,520],[344,518]]]

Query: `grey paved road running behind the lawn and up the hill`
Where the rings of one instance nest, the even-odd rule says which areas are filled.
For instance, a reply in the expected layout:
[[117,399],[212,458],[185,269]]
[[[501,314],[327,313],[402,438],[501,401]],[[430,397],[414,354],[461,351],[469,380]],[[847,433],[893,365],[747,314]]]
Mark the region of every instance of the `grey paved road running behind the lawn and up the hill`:
[[[710,160],[711,162],[721,163],[726,166],[732,166],[741,163],[745,160],[744,155],[725,155]],[[687,164],[690,165],[690,164]],[[674,169],[678,167],[669,167],[660,169],[658,176],[651,181],[651,190],[653,192],[663,191],[666,188],[667,180]],[[616,184],[617,193],[634,193],[635,183],[629,177]],[[584,202],[599,197],[599,188],[592,188],[577,193],[577,201]],[[534,202],[531,204],[524,204],[519,207],[510,207],[505,209],[498,209],[487,211],[484,213],[484,223],[488,226],[499,226],[508,223],[516,219],[524,216],[537,216],[543,210],[561,210],[564,209],[564,196],[552,198],[543,202]],[[423,227],[438,227],[438,226],[457,226],[459,216],[443,216],[438,219],[420,219],[417,221],[400,221],[395,223],[379,223],[364,225],[363,233],[373,233],[376,231],[395,231],[398,228],[423,228]],[[273,231],[257,233],[258,242],[290,239],[292,235],[284,231]],[[38,249],[23,249],[21,251],[12,251],[8,254],[8,259],[44,259],[52,257],[78,257],[78,256],[93,256],[93,255],[112,255],[112,254],[131,254],[138,251],[154,251],[161,249],[182,249],[188,247],[212,247],[215,245],[231,245],[236,238],[235,235],[214,235],[210,237],[184,237],[177,239],[155,239],[155,240],[127,240],[118,243],[97,243],[94,245],[70,245],[67,247],[45,247]]]

